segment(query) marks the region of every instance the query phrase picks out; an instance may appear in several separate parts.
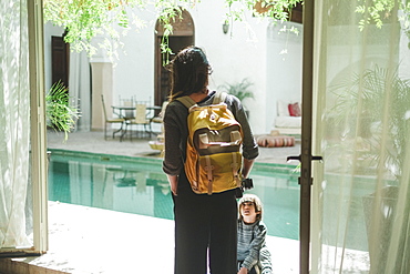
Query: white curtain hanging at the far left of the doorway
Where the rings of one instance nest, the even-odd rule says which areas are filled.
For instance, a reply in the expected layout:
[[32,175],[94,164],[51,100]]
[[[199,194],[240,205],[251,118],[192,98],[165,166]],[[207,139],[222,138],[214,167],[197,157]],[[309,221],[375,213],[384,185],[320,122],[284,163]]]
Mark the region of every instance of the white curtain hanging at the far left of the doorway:
[[0,247],[30,246],[25,232],[30,91],[25,0],[0,10]]

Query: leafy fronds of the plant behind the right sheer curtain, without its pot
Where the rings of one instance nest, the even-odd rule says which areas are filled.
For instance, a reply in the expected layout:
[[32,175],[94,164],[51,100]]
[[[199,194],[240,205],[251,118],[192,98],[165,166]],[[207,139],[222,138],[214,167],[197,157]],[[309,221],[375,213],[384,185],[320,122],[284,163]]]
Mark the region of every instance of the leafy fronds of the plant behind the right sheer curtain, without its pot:
[[[401,79],[397,70],[388,70],[379,67],[368,69],[361,74],[344,79],[332,87],[337,95],[337,104],[331,110],[335,125],[347,124],[348,128],[356,128],[359,123],[358,134],[369,148],[368,153],[375,163],[386,163],[391,174],[399,179],[402,172],[406,153],[407,132],[410,126],[406,119],[410,105],[410,79]],[[388,102],[388,104],[386,103]],[[388,108],[388,111],[385,111]],[[387,114],[386,114],[387,113]],[[387,115],[387,116],[386,116]],[[346,122],[349,118],[350,123]],[[383,146],[381,134],[381,121],[385,123],[389,146]],[[345,130],[349,135],[349,130]],[[379,160],[378,151],[386,149],[385,161]],[[377,166],[381,169],[383,166]]]

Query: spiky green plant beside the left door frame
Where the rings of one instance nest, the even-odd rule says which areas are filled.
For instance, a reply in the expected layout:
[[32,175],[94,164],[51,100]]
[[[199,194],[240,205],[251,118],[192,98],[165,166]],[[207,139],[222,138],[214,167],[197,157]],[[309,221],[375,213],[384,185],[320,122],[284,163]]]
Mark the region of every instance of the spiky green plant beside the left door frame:
[[74,129],[80,111],[70,105],[69,89],[61,82],[55,82],[45,94],[47,126],[64,132],[64,141]]

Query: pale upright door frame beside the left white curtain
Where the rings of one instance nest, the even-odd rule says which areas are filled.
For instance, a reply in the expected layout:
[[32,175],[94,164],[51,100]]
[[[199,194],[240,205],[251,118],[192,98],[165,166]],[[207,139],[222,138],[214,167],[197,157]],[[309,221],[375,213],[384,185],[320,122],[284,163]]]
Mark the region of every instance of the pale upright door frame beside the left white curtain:
[[34,253],[49,248],[48,156],[44,95],[44,26],[42,0],[28,1],[29,73],[31,106],[31,180],[33,197]]

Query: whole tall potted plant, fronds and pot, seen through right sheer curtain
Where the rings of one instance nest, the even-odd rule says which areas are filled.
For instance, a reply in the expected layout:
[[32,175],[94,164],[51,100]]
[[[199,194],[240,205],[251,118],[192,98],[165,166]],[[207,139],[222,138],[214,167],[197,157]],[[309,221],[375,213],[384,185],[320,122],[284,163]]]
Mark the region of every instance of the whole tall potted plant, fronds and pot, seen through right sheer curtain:
[[[390,232],[396,215],[409,212],[410,206],[408,202],[401,203],[401,207],[398,205],[401,185],[409,183],[403,174],[408,169],[404,162],[409,151],[410,79],[400,78],[398,69],[375,67],[346,80],[334,87],[337,94],[337,104],[331,110],[336,118],[334,125],[345,128],[345,140],[351,138],[365,144],[365,156],[370,160],[367,163],[373,169],[369,174],[379,174],[375,176],[377,191],[362,196],[362,206],[369,239],[370,272],[385,273],[386,261],[382,258],[390,252]],[[342,143],[348,145],[348,142]],[[356,155],[363,156],[358,151]],[[361,169],[368,169],[368,165],[356,172],[362,172]],[[357,164],[352,168],[357,169]],[[383,171],[387,174],[381,175]],[[400,201],[404,201],[403,196]],[[409,220],[409,215],[404,215]],[[403,221],[404,224],[407,222]],[[377,241],[372,241],[375,239]],[[402,265],[404,260],[398,257],[397,265]]]

